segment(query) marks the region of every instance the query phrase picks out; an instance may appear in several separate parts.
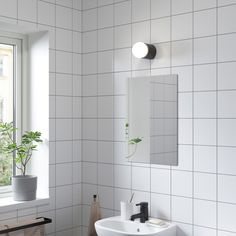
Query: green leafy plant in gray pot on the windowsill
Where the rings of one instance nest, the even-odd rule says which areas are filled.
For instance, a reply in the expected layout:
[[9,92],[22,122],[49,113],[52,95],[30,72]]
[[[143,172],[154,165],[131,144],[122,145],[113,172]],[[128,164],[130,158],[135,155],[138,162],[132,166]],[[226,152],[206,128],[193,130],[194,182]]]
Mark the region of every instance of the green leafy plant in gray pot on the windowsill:
[[0,147],[6,155],[14,154],[15,166],[20,175],[12,176],[13,198],[16,201],[31,201],[36,199],[37,176],[27,175],[27,165],[31,160],[37,143],[42,142],[41,133],[26,131],[19,143],[13,138],[16,128],[12,123],[0,123]]

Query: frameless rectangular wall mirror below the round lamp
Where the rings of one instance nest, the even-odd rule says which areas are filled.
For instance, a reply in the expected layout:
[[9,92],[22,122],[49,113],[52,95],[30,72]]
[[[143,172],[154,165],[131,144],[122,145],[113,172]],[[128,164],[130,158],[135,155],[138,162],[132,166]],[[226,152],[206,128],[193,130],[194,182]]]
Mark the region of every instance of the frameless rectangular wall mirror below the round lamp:
[[127,141],[132,162],[178,164],[178,76],[128,79]]

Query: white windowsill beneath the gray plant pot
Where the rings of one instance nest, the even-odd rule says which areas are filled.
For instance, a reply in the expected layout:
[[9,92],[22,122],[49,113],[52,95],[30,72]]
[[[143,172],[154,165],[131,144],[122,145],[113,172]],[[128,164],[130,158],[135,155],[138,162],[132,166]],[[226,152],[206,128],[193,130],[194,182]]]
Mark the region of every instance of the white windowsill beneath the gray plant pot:
[[12,197],[0,199],[0,213],[14,211],[22,208],[30,208],[49,204],[49,197],[37,198],[33,201],[14,201]]

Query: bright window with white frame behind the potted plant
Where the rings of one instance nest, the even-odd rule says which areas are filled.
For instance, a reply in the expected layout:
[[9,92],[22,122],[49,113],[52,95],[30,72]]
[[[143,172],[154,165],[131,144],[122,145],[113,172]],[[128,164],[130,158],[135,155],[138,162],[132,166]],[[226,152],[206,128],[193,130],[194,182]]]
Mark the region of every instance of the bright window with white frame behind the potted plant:
[[[21,127],[20,87],[21,40],[0,37],[0,122],[13,122],[17,128]],[[16,134],[14,136],[16,138]],[[13,174],[13,155],[0,152],[0,192],[9,192]]]

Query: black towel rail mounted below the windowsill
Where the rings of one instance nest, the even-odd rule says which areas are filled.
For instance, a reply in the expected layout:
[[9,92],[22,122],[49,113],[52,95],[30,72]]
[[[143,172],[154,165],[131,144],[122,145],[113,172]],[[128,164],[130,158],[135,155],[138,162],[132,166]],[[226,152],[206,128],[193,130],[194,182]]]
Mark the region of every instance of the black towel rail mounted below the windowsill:
[[[37,221],[37,220],[40,220],[40,219],[42,219],[42,220]],[[32,228],[32,227],[35,227],[35,226],[52,223],[52,220],[49,219],[49,218],[46,218],[46,217],[38,217],[35,220],[36,220],[36,222],[32,222],[32,223],[29,223],[29,224],[23,224],[22,223],[22,224],[19,224],[19,225],[14,225],[13,227],[8,226],[8,225],[2,225],[1,227],[5,227],[5,228],[0,230],[0,234],[7,234],[7,233],[17,231],[17,230],[28,229],[28,228]]]

